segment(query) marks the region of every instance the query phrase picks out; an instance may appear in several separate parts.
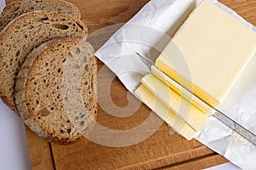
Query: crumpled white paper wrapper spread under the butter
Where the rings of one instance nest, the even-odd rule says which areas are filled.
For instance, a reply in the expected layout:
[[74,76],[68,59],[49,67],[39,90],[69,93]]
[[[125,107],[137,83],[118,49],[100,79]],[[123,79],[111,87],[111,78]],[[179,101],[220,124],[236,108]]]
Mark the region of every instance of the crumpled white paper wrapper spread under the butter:
[[[252,26],[240,15],[218,1],[212,3],[224,8],[252,30]],[[141,78],[149,72],[148,66],[139,59],[136,52],[151,60],[170,42],[171,37],[183,23],[200,0],[151,0],[125,26],[116,31],[113,37],[96,56],[119,77],[131,94],[140,85]],[[256,54],[218,110],[256,133]],[[255,169],[256,146],[241,138],[215,117],[209,116],[207,122],[195,139],[207,145],[218,154],[226,157],[238,167]]]

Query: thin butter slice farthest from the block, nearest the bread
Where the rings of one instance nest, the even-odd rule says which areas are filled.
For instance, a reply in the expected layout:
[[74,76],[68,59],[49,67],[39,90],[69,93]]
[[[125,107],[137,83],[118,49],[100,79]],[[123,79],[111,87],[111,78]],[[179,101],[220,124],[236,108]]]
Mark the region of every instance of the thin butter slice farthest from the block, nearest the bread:
[[164,120],[173,130],[182,135],[185,139],[192,139],[195,136],[195,130],[171,111],[160,99],[158,99],[148,88],[141,85],[135,91],[140,99],[149,109],[154,111],[162,120]]

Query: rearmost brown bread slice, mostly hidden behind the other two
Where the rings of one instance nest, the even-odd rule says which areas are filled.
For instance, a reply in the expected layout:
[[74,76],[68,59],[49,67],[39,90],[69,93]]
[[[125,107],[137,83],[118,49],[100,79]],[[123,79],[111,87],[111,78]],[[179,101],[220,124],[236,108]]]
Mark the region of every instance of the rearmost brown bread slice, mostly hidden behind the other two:
[[73,3],[67,3],[62,0],[19,0],[8,3],[0,15],[0,31],[9,24],[11,20],[15,20],[21,14],[37,10],[56,11],[63,14],[71,14],[80,19],[81,14],[79,8]]

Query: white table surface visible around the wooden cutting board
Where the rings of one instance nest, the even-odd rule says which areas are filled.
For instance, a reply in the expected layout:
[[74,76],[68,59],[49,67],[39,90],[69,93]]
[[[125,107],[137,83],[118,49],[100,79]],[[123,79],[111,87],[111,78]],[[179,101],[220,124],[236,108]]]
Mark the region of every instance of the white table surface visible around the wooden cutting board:
[[[0,0],[0,12],[5,1]],[[26,144],[24,124],[19,116],[0,99],[0,170],[29,170],[31,162]],[[232,163],[225,163],[207,170],[240,170]]]

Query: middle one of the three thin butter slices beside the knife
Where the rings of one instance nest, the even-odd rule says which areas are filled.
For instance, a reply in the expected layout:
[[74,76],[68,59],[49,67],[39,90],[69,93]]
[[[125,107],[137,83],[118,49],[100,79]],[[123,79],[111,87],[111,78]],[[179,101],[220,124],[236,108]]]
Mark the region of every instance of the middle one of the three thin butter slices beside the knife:
[[196,132],[204,126],[207,115],[200,111],[195,105],[191,105],[188,100],[177,94],[172,88],[169,88],[163,82],[160,82],[152,74],[148,74],[142,79],[143,85],[150,90],[160,101],[162,101],[170,110],[188,123]]

